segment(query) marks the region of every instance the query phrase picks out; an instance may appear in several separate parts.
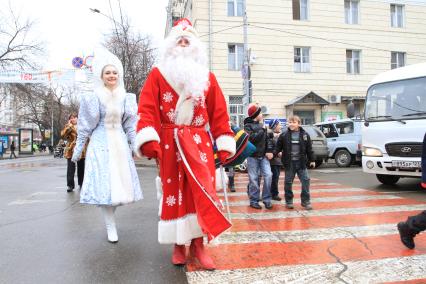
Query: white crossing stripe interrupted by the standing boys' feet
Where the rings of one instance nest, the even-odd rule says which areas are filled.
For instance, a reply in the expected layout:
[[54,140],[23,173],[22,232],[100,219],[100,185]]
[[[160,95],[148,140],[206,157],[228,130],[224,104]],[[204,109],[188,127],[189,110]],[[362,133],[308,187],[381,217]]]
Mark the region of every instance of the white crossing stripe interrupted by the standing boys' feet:
[[[402,197],[395,196],[395,195],[356,195],[356,196],[337,196],[337,197],[318,197],[318,198],[311,198],[312,203],[318,203],[318,202],[342,202],[342,201],[365,201],[365,200],[384,200],[384,199],[402,199]],[[294,203],[300,203],[299,198],[293,199]],[[229,202],[229,206],[244,206],[249,205],[249,200],[242,200],[242,201],[235,201],[235,202]],[[284,201],[275,201],[272,200],[272,203],[274,204],[284,204]]]

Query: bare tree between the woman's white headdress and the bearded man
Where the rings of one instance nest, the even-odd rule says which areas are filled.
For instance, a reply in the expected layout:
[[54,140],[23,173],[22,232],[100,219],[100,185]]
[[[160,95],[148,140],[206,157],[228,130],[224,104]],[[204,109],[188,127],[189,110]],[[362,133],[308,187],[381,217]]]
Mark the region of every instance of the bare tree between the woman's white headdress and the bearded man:
[[133,31],[127,16],[120,9],[120,21],[113,18],[114,28],[105,38],[105,47],[114,53],[122,62],[124,69],[124,85],[128,92],[139,97],[141,87],[145,83],[155,61],[155,49],[149,36]]

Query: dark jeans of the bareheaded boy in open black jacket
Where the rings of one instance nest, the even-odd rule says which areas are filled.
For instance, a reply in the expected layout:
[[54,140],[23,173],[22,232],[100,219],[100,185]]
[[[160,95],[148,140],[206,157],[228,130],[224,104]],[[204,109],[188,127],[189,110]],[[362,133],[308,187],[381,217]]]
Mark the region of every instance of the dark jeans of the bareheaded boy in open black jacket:
[[285,169],[285,178],[284,178],[284,197],[285,202],[288,204],[293,203],[293,180],[296,176],[299,177],[300,182],[302,183],[302,192],[300,194],[300,199],[302,204],[309,204],[311,200],[311,196],[309,194],[309,183],[310,178],[308,174],[308,169],[302,167],[300,161],[291,161],[291,166]]

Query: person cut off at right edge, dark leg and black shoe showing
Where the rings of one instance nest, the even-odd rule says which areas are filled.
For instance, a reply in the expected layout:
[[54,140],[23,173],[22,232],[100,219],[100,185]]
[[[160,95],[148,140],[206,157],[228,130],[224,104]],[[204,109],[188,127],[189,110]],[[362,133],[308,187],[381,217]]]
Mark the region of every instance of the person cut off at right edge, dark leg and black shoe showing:
[[[423,138],[422,180],[420,185],[426,189],[426,133]],[[399,222],[397,227],[401,242],[407,248],[413,249],[415,247],[414,237],[420,232],[426,230],[426,210],[415,216],[408,217],[405,222]]]

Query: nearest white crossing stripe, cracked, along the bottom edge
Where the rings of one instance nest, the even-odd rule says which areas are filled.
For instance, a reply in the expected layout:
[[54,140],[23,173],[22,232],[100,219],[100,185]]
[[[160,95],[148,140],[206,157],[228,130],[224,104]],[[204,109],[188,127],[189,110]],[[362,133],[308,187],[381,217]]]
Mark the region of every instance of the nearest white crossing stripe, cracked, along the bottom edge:
[[425,278],[426,255],[329,264],[187,272],[188,283],[383,283]]

